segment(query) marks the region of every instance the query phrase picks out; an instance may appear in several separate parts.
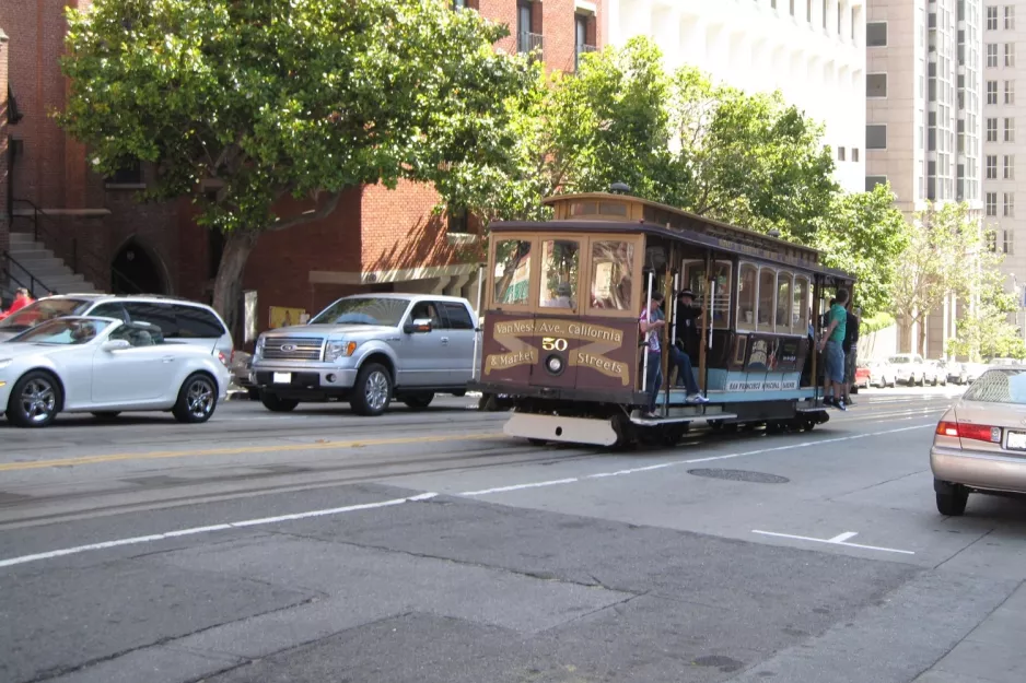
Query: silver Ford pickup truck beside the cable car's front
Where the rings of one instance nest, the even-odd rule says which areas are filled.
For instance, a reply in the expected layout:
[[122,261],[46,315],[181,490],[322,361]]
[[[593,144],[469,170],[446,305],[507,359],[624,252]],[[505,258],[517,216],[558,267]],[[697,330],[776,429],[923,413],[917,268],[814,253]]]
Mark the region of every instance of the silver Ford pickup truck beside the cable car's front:
[[424,409],[435,393],[466,393],[478,334],[463,298],[347,296],[306,325],[261,334],[249,379],[275,412],[328,400],[349,401],[361,415],[382,414],[393,399]]

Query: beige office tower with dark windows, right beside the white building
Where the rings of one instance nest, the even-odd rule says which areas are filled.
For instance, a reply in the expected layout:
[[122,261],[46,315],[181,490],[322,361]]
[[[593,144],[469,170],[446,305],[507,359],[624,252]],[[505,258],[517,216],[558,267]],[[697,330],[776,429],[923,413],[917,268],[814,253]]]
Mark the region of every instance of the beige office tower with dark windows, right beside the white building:
[[[928,201],[982,214],[982,0],[868,0],[866,189],[889,181],[909,219]],[[944,354],[959,315],[952,298],[928,317],[928,356]]]

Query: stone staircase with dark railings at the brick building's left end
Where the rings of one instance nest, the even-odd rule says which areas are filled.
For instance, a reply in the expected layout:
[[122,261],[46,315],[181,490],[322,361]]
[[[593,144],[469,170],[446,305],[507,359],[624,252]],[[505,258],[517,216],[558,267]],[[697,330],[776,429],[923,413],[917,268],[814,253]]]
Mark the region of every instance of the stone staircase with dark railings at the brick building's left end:
[[[7,282],[0,281],[0,296],[10,301],[18,287],[33,288],[33,296],[38,298],[47,294],[92,294],[97,290],[85,278],[72,272],[70,268],[42,242],[36,242],[31,233],[11,233],[11,261],[0,259],[0,278],[10,275]],[[10,272],[2,268],[9,264]],[[33,282],[34,281],[34,282]]]

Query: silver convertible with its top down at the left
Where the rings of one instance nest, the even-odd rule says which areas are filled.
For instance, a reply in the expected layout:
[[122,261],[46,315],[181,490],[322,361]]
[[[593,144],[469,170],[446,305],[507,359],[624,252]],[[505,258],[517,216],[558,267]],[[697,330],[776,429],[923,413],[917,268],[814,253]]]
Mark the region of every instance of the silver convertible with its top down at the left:
[[0,409],[20,427],[44,427],[62,412],[171,411],[207,422],[230,381],[215,353],[168,342],[153,325],[56,318],[0,344]]

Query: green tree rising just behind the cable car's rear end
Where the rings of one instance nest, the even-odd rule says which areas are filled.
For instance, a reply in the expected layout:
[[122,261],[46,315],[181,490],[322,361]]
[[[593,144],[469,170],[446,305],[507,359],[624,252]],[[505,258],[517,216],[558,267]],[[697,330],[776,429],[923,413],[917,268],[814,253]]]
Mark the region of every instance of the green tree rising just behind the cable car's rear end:
[[894,310],[897,259],[911,244],[911,227],[894,199],[881,185],[871,192],[838,193],[807,238],[827,266],[855,275],[863,318]]

